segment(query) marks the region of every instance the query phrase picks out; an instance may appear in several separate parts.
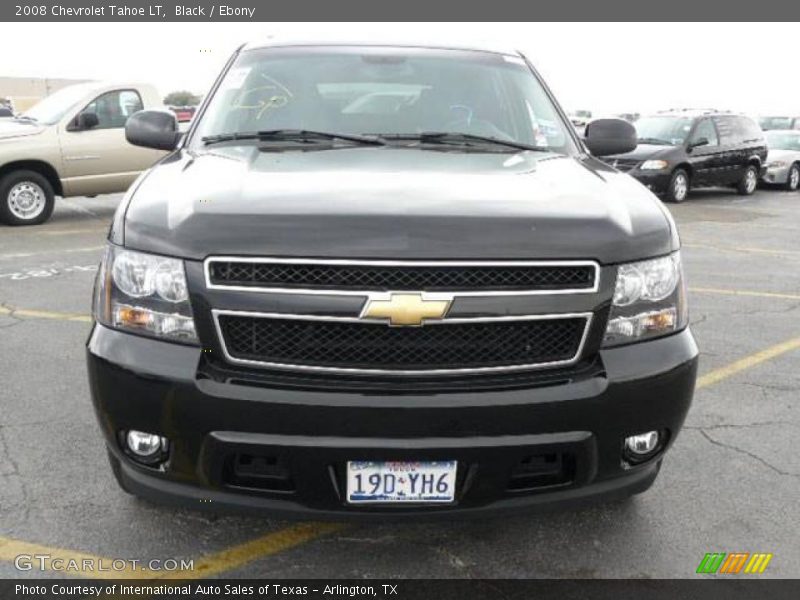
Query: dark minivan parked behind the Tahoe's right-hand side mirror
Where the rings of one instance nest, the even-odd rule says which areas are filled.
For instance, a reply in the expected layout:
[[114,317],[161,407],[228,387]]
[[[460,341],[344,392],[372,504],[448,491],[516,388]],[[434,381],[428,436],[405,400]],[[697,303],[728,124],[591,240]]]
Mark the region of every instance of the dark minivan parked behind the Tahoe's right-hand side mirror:
[[756,191],[764,172],[767,142],[749,117],[702,110],[675,110],[639,119],[639,145],[606,159],[670,202],[683,202],[692,188],[733,186]]

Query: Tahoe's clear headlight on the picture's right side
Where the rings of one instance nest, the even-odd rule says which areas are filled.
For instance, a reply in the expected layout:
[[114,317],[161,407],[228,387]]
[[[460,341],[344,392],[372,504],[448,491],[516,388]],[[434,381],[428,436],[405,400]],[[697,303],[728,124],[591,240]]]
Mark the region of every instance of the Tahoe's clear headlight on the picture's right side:
[[668,335],[688,320],[679,252],[617,267],[604,346]]

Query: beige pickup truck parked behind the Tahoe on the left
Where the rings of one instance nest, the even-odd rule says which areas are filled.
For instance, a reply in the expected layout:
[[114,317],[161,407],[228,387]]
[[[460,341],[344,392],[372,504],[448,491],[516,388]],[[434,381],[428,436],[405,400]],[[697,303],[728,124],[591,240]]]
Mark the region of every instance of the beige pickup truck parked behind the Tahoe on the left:
[[150,85],[81,83],[0,120],[0,221],[35,225],[56,196],[123,192],[164,152],[125,140],[125,122],[159,108]]

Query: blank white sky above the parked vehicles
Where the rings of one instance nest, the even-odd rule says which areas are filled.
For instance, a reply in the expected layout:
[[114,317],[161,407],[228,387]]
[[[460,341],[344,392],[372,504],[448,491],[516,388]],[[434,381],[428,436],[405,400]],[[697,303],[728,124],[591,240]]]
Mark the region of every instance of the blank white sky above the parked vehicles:
[[595,115],[800,113],[796,23],[0,23],[0,76],[204,93],[239,44],[269,36],[501,43],[528,56],[564,108]]

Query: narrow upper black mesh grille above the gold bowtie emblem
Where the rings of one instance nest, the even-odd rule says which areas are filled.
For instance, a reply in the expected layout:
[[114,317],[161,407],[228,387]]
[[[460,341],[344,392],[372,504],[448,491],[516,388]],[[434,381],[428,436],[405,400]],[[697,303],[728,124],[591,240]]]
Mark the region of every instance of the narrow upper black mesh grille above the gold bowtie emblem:
[[357,291],[591,290],[593,263],[413,265],[272,262],[214,259],[208,280],[218,286]]

